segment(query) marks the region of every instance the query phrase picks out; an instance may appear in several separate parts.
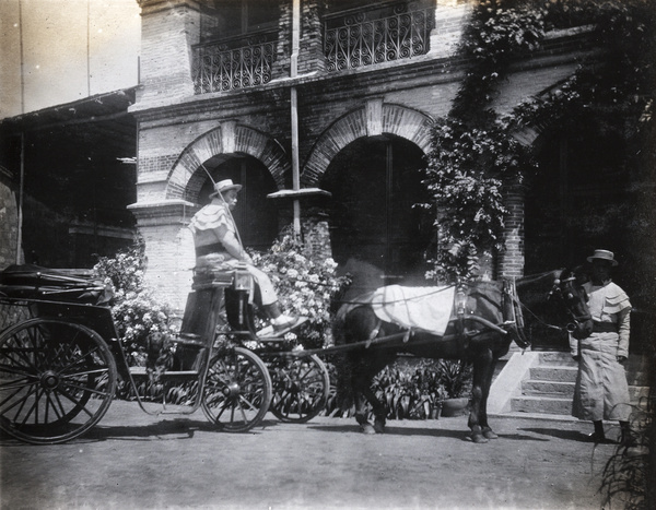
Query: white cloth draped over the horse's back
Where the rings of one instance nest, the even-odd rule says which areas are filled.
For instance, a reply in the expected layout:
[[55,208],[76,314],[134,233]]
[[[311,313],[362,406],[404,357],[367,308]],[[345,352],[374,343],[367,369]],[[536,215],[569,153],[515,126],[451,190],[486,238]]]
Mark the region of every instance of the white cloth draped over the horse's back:
[[420,328],[444,335],[454,308],[455,286],[402,287],[388,285],[371,295],[378,319],[401,328]]

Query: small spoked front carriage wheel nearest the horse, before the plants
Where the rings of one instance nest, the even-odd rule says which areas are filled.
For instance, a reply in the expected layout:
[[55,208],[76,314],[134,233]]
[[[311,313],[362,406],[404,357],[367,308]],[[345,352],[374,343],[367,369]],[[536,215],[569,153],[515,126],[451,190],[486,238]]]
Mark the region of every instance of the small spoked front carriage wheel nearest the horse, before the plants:
[[328,401],[330,376],[317,356],[269,356],[273,382],[271,412],[281,422],[305,423],[318,415]]

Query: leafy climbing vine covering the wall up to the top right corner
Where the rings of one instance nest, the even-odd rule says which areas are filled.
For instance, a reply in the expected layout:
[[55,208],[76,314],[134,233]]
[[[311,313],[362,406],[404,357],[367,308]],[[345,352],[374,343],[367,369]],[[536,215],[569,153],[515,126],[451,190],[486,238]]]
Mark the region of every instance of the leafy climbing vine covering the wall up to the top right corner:
[[[440,241],[427,278],[473,278],[481,257],[503,250],[504,191],[539,170],[531,147],[515,138],[525,127],[602,114],[641,143],[652,123],[654,8],[654,0],[482,0],[473,8],[459,49],[469,69],[431,132],[424,183],[432,200],[420,205],[434,214]],[[591,26],[600,54],[543,97],[503,117],[493,111],[513,61],[538,51],[549,31],[573,26]]]

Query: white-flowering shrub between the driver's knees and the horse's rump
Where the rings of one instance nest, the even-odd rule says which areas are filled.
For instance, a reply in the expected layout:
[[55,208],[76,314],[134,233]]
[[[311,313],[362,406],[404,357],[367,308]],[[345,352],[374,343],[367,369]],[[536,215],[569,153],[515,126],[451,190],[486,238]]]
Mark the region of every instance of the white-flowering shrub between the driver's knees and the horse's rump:
[[297,330],[305,348],[332,344],[330,303],[345,283],[337,277],[337,263],[316,259],[290,234],[277,240],[265,253],[251,252],[253,263],[271,278],[282,308],[290,315],[307,317]]

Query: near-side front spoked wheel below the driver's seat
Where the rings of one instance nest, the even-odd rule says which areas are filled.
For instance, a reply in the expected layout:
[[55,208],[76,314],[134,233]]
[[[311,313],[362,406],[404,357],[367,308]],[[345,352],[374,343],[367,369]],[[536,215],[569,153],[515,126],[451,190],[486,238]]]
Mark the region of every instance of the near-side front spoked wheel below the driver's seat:
[[221,430],[250,430],[262,420],[270,402],[271,378],[254,352],[234,347],[210,361],[202,411]]

